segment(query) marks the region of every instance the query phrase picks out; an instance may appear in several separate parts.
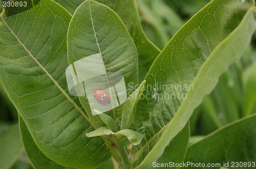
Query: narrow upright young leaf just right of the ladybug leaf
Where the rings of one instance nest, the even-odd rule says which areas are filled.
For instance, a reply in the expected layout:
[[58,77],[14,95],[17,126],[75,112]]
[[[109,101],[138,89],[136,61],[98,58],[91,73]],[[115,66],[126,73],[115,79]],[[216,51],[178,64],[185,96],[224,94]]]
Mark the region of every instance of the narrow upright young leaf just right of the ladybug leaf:
[[121,130],[129,128],[133,120],[133,109],[138,103],[141,94],[144,91],[146,80],[142,81],[140,86],[127,98],[123,105]]

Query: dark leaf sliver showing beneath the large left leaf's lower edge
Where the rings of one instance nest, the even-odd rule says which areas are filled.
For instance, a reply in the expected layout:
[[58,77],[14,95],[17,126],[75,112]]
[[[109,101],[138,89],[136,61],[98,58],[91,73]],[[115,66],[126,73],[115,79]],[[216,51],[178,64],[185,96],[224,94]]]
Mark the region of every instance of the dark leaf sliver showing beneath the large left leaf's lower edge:
[[32,136],[29,132],[29,129],[28,129],[26,123],[20,116],[19,116],[19,129],[20,129],[20,134],[22,135],[22,141],[23,141],[25,152],[34,168],[36,168],[36,169],[68,168],[68,167],[59,165],[56,162],[50,160],[44,153],[42,153],[39,150],[39,148],[36,146]]

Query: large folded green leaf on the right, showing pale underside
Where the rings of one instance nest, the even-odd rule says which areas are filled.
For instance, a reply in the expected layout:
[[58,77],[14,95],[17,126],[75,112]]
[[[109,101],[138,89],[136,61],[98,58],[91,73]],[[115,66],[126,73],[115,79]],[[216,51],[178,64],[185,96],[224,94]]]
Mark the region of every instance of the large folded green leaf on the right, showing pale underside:
[[145,137],[134,150],[133,166],[143,160],[140,168],[145,168],[162,155],[219,76],[240,58],[255,31],[253,6],[253,1],[211,1],[161,52],[146,76],[145,86],[151,88],[144,94],[153,96],[152,86],[157,85],[165,98],[145,98],[137,104],[136,126]]

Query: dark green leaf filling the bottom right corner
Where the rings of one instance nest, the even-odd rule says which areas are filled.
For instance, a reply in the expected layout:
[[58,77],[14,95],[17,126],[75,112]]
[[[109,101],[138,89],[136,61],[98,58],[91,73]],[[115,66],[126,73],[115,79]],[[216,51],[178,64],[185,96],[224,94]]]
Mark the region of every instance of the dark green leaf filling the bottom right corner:
[[190,145],[185,162],[220,163],[222,166],[223,162],[229,162],[229,167],[231,162],[255,162],[255,129],[255,114],[230,123]]

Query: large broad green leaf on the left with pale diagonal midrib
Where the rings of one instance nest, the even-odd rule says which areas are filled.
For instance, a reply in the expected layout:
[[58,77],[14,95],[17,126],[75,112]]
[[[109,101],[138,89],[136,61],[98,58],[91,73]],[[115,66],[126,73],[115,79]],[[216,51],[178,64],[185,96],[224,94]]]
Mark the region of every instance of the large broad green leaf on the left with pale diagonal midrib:
[[49,0],[16,15],[2,13],[0,81],[42,153],[61,165],[93,168],[111,153],[100,137],[86,136],[93,130],[89,118],[78,98],[68,94],[70,19]]

